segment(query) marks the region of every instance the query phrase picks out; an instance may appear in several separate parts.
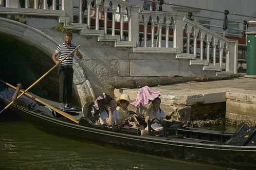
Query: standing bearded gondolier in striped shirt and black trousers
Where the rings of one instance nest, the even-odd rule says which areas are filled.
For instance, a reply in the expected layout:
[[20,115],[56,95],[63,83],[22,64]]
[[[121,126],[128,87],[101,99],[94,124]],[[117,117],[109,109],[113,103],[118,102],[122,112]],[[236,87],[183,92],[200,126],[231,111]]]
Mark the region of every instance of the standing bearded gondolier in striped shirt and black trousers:
[[[79,51],[74,51],[68,58],[60,61],[67,56],[71,51],[73,51],[76,46],[71,43],[73,34],[72,32],[66,32],[64,39],[65,42],[59,44],[53,53],[53,61],[59,65],[58,66],[58,78],[59,78],[59,101],[61,102],[59,108],[72,108],[75,109],[72,105],[72,82],[73,82],[73,56],[77,55],[79,59],[83,59],[83,55]],[[59,58],[57,59],[57,55]],[[67,89],[67,90],[66,90]],[[64,100],[65,92],[67,92],[67,99]],[[66,104],[64,102],[67,102]]]

